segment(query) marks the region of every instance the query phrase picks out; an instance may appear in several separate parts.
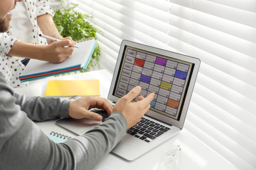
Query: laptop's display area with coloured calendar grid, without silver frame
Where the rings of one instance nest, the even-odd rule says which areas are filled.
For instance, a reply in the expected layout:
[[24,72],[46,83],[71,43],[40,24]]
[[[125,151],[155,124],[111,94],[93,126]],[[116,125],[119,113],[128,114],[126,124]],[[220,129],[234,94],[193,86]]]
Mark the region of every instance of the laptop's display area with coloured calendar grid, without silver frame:
[[123,97],[140,86],[140,95],[156,94],[150,110],[179,120],[192,69],[193,63],[125,46],[114,95]]

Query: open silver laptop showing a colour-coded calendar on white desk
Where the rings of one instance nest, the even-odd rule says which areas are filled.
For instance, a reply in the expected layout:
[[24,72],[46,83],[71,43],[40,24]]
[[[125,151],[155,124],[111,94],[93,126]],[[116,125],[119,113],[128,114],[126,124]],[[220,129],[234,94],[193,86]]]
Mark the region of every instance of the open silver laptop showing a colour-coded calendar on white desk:
[[[142,88],[140,95],[146,97],[152,92],[156,95],[150,110],[136,126],[127,130],[112,153],[125,160],[135,160],[177,135],[184,125],[199,67],[198,58],[123,40],[108,100],[114,105],[138,85]],[[104,110],[93,111],[108,116]],[[102,122],[63,118],[56,124],[83,135]]]

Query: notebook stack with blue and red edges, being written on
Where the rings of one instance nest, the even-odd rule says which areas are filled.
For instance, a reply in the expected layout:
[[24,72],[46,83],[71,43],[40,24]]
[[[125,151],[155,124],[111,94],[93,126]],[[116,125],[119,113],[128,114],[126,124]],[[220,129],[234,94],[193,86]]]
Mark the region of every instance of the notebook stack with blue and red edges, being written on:
[[95,39],[85,39],[77,42],[77,46],[79,48],[74,49],[72,56],[62,63],[50,63],[49,61],[30,59],[30,62],[19,76],[20,81],[26,82],[86,69],[95,50],[96,41]]

